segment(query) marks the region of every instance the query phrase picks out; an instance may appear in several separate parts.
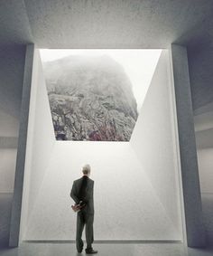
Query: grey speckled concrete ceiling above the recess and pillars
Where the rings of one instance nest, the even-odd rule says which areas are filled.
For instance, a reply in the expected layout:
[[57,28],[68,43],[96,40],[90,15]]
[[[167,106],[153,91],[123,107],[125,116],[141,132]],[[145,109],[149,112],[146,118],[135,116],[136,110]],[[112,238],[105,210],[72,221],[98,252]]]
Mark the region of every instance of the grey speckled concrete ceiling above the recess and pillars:
[[1,0],[1,44],[40,48],[196,46],[212,34],[212,0]]

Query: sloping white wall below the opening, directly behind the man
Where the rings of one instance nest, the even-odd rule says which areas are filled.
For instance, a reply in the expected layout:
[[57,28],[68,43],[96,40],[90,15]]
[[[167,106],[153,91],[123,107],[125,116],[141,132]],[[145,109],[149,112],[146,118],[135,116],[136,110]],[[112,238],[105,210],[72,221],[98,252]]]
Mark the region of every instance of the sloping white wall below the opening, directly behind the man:
[[176,240],[180,234],[159,202],[129,143],[58,142],[28,226],[29,240],[75,240],[69,192],[89,163],[95,180],[97,240]]

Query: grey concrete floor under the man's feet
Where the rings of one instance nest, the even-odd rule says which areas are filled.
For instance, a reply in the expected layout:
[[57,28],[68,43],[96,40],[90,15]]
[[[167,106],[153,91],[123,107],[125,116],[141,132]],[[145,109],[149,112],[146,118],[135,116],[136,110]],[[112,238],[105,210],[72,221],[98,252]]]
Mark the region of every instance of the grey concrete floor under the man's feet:
[[[208,250],[186,249],[181,243],[94,243],[98,256],[212,256]],[[23,242],[19,248],[0,249],[2,256],[79,256],[74,243]]]

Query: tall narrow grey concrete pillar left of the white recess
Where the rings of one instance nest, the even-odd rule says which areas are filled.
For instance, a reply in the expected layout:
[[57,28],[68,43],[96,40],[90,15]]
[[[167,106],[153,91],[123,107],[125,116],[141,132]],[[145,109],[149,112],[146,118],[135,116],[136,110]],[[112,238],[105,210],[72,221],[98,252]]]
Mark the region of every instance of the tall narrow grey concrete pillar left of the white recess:
[[17,158],[14,176],[14,197],[11,213],[10,245],[14,246],[19,241],[20,218],[23,198],[23,175],[25,166],[25,149],[28,128],[31,81],[32,81],[32,60],[34,45],[26,48],[26,58],[23,74],[23,94],[20,114],[19,140],[17,147]]

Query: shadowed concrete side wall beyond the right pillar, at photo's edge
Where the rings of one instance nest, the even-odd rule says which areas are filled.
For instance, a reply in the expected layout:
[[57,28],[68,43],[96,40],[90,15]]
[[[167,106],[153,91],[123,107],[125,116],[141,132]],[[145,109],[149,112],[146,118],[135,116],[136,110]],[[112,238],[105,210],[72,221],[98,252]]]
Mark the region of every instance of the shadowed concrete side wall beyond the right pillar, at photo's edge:
[[[208,31],[209,32],[209,31]],[[194,109],[195,135],[199,160],[202,208],[208,243],[213,243],[213,43],[208,40],[188,47],[190,90]]]

